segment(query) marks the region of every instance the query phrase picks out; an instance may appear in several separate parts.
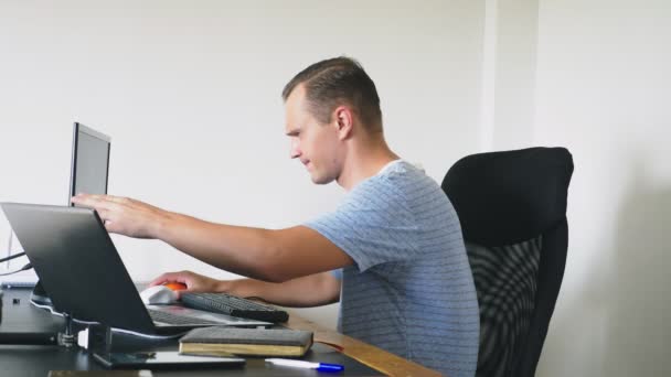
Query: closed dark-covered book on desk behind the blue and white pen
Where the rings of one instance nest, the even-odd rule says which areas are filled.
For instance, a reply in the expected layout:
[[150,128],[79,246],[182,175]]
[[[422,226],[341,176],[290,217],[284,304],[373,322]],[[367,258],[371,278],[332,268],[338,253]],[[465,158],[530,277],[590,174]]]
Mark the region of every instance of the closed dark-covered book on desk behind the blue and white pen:
[[302,356],[312,346],[312,332],[286,328],[194,328],[180,338],[189,355]]

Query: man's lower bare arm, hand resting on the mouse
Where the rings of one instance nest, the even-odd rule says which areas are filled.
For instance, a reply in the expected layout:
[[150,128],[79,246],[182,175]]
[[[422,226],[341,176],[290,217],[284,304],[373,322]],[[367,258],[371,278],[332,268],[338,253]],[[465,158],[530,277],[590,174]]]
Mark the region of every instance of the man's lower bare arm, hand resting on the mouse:
[[226,292],[241,298],[258,298],[283,306],[319,306],[340,300],[340,280],[330,272],[271,283],[254,279],[215,280],[191,271],[181,271],[163,273],[150,286],[170,281],[187,284],[188,292]]

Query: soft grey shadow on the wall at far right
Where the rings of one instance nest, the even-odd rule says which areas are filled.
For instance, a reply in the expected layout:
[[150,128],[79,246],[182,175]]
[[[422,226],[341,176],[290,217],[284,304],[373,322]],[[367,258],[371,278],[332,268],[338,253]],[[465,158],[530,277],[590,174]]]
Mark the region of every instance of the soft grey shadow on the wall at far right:
[[604,376],[671,376],[671,187],[636,166],[622,196],[611,256]]

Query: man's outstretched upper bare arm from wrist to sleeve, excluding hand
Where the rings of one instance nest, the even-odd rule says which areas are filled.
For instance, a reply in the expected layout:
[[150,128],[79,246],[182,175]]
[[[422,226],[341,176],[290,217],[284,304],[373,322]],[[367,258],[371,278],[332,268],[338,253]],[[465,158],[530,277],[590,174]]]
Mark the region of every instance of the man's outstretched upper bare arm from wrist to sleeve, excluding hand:
[[269,282],[352,263],[344,251],[305,226],[270,230],[174,215],[161,224],[155,238],[212,266]]

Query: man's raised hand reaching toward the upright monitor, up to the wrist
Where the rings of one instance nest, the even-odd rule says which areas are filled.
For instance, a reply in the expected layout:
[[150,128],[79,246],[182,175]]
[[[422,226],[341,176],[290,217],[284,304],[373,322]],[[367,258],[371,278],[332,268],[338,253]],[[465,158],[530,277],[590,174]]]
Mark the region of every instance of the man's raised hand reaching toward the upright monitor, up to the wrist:
[[167,211],[128,197],[78,194],[72,203],[95,208],[107,231],[136,238],[157,238],[159,227],[171,216]]

